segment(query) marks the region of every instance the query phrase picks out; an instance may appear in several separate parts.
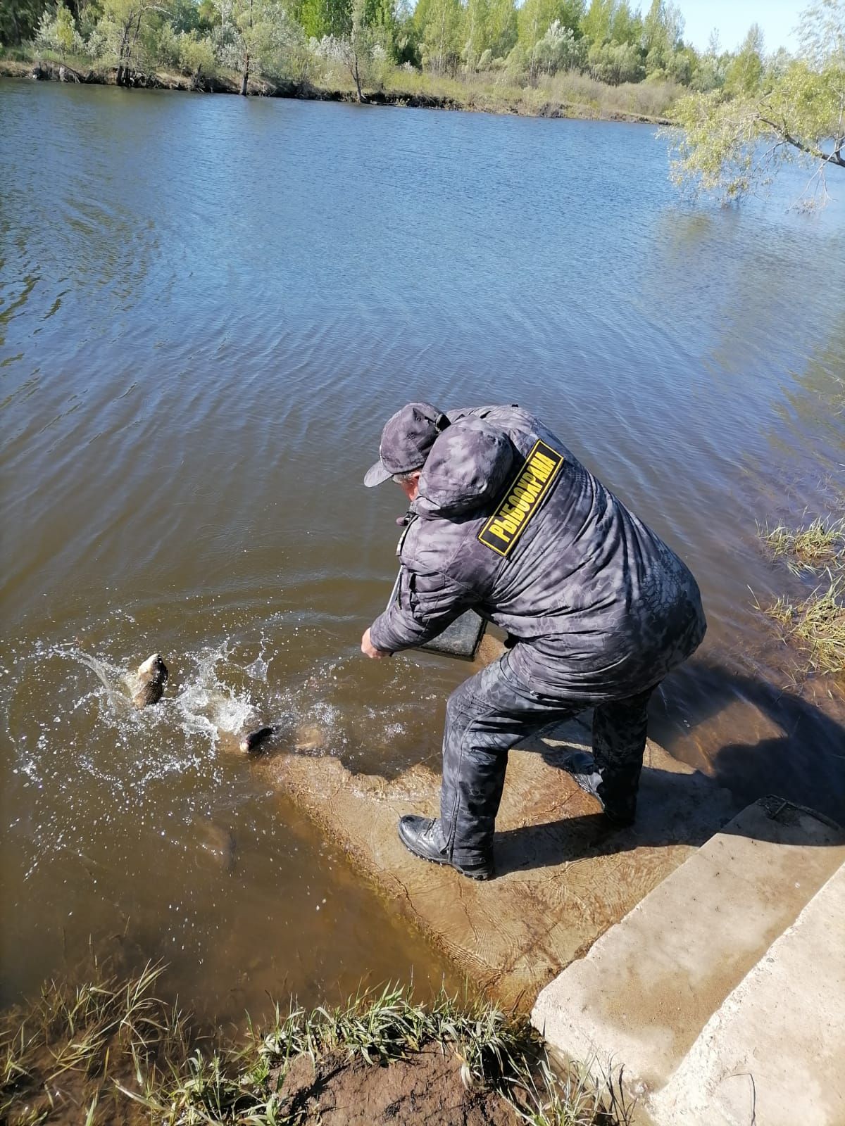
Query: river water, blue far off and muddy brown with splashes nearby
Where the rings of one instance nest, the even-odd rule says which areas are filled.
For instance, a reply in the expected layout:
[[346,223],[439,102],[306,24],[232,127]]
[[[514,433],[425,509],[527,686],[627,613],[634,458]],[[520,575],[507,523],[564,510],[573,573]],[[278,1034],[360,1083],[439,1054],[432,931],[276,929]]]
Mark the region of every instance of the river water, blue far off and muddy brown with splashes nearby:
[[[845,182],[692,205],[650,128],[0,82],[0,1001],[119,936],[219,1013],[446,967],[233,750],[437,765],[445,659],[368,662],[410,399],[530,405],[690,563],[652,732],[842,816],[845,708],[755,609],[845,500]],[[123,672],[168,660],[134,714]],[[783,690],[785,687],[785,690]]]

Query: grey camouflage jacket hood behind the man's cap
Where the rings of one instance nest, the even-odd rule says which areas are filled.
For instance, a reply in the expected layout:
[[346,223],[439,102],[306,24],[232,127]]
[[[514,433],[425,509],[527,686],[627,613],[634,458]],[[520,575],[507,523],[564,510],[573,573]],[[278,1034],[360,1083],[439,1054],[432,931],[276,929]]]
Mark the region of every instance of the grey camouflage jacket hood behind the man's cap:
[[413,511],[421,517],[452,517],[491,503],[515,456],[504,430],[477,418],[453,422],[426,458]]

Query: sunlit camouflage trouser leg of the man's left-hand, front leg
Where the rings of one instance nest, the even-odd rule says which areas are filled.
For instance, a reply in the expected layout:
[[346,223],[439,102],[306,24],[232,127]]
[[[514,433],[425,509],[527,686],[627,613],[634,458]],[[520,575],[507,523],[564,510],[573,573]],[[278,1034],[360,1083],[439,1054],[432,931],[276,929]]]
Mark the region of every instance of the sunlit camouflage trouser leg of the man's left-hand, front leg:
[[443,738],[441,828],[450,859],[489,856],[508,750],[587,705],[539,700],[508,672],[507,653],[450,696]]

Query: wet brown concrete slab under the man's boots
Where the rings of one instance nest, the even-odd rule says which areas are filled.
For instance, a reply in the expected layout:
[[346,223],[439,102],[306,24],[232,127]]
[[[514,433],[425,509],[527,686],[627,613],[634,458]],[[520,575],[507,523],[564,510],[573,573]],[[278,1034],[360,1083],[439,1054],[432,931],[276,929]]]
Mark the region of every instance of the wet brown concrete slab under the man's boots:
[[510,752],[498,877],[481,884],[418,860],[397,835],[402,814],[438,812],[433,771],[418,767],[385,780],[352,774],[329,756],[291,754],[263,769],[471,981],[527,1009],[736,812],[726,790],[650,743],[638,823],[613,830],[560,769],[562,753],[588,740],[589,727],[573,721]]

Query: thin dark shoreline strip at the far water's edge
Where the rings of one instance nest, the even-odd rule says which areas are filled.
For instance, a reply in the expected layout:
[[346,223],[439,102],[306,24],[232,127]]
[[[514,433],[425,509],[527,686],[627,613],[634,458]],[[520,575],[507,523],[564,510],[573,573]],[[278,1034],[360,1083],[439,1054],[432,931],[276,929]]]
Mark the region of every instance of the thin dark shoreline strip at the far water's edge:
[[[63,73],[62,73],[63,72]],[[64,81],[68,84],[83,83],[90,86],[116,86],[115,68],[79,68],[62,64],[52,60],[24,62],[11,59],[0,59],[0,78],[27,79],[29,81]],[[177,74],[169,71],[155,71],[145,74],[135,83],[136,88],[150,90],[184,90],[198,93],[232,93],[240,95],[240,79],[225,74],[201,77],[199,79]],[[303,101],[346,101],[355,102],[354,90],[330,89],[313,86],[310,82],[270,82],[266,79],[250,80],[250,97],[295,98]],[[523,102],[509,98],[483,100],[460,99],[446,95],[412,92],[408,90],[374,90],[367,91],[367,105],[403,106],[415,109],[450,109],[469,113],[504,114],[519,117],[555,117],[576,120],[628,122],[644,125],[670,125],[666,117],[651,117],[646,114],[629,114],[617,110],[603,111],[593,106],[577,102],[541,102],[535,108],[526,108]]]

